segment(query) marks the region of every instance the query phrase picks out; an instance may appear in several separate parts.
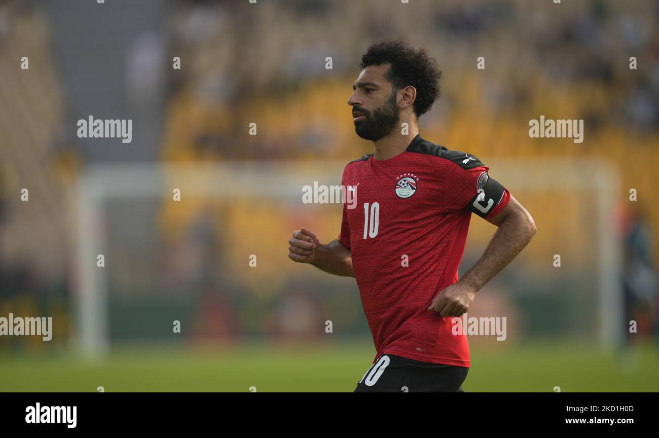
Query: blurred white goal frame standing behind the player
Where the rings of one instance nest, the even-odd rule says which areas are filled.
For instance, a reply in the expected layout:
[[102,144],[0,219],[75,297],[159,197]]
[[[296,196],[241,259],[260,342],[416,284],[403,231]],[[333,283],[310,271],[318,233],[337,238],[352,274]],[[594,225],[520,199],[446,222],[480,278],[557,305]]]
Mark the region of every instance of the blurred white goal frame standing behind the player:
[[[97,165],[87,169],[76,186],[76,345],[86,358],[99,360],[109,353],[107,271],[97,267],[106,246],[103,225],[111,200],[171,200],[181,196],[239,199],[260,196],[282,202],[301,202],[302,187],[311,181],[335,184],[345,162],[271,161],[225,162],[200,165],[154,163]],[[597,236],[598,338],[604,348],[623,340],[621,290],[622,243],[612,213],[612,198],[619,193],[617,171],[606,161],[588,159],[499,159],[488,163],[515,193],[521,190],[581,190],[592,196],[596,211],[592,223]],[[493,171],[494,173],[494,171]],[[503,177],[505,175],[505,177]],[[238,184],[235,182],[239,182]],[[338,225],[337,225],[338,229]],[[540,231],[542,232],[542,231]],[[111,263],[106,260],[106,263]],[[547,263],[552,263],[551,255]]]

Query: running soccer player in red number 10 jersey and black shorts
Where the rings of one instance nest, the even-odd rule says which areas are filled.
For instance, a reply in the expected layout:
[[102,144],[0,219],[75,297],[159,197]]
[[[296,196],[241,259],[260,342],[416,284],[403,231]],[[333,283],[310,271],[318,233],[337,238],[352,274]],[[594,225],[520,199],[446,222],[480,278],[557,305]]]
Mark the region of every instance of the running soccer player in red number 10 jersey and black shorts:
[[[478,158],[418,133],[442,76],[424,49],[376,41],[360,68],[348,104],[357,135],[374,150],[343,171],[357,207],[343,204],[341,232],[329,244],[295,231],[289,258],[357,281],[377,354],[355,392],[459,392],[469,344],[453,335],[451,319],[529,243],[535,223]],[[498,229],[458,280],[472,213]]]

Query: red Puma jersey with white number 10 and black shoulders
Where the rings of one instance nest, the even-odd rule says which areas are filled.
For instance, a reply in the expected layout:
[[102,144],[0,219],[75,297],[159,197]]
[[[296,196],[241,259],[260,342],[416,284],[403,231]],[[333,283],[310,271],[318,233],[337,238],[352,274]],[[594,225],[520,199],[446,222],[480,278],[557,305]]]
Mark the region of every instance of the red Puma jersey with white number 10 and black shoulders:
[[376,358],[469,367],[466,335],[428,306],[458,280],[471,213],[494,217],[510,200],[489,170],[420,135],[395,157],[369,153],[346,165],[342,184],[356,207],[343,204],[339,240],[352,252]]

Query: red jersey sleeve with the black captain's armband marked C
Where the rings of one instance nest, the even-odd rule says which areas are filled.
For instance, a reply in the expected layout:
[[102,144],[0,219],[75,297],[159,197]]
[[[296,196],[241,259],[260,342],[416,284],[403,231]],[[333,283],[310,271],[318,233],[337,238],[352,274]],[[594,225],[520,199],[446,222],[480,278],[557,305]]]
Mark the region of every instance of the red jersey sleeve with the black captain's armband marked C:
[[469,209],[484,219],[500,213],[510,202],[510,192],[490,177],[489,170],[482,164],[470,169],[453,166],[447,182],[447,210]]

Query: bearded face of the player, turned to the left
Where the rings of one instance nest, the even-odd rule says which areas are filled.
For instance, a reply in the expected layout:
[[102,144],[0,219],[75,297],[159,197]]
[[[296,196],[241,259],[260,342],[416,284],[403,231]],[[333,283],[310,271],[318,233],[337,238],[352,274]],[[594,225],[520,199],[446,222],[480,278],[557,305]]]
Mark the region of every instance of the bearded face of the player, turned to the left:
[[386,78],[389,64],[369,65],[353,85],[348,105],[353,107],[355,132],[364,140],[380,140],[398,124],[397,93]]

